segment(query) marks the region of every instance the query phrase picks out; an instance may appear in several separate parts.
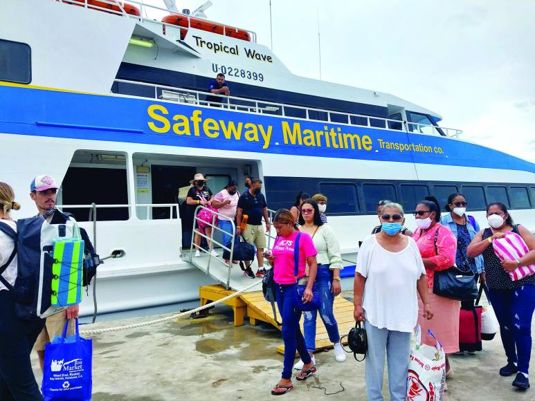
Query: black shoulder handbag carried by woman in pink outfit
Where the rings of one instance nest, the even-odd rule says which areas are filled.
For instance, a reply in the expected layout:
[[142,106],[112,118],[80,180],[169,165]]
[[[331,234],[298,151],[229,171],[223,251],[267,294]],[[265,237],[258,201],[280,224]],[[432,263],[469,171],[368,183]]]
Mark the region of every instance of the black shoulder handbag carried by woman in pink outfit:
[[[435,254],[438,254],[438,230],[435,234]],[[473,301],[478,297],[478,283],[475,282],[471,270],[466,272],[452,266],[446,270],[435,271],[433,293],[439,297],[455,299],[456,301]]]

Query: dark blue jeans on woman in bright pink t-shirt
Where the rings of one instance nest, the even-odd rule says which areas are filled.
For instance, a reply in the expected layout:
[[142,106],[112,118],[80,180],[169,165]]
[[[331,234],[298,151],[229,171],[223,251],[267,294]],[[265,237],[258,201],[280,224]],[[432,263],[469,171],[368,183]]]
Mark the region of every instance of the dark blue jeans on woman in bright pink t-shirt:
[[280,316],[282,317],[282,339],[284,340],[284,369],[282,369],[282,378],[291,379],[291,370],[293,362],[296,359],[296,350],[298,351],[302,362],[309,364],[311,357],[305,347],[305,339],[301,334],[299,321],[301,311],[295,308],[295,299],[293,293],[297,291],[297,284],[277,284],[275,297],[277,297],[277,306]]

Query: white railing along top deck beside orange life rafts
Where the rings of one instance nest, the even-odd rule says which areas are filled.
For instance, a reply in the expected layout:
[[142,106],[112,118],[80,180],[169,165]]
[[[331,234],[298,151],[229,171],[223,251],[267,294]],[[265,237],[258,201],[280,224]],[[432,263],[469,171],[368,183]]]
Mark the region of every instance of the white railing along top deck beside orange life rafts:
[[[123,17],[127,17],[127,18],[134,18],[134,19],[137,19],[138,21],[140,21],[142,24],[143,24],[143,22],[147,21],[147,22],[149,22],[151,24],[156,23],[156,24],[160,24],[162,26],[175,28],[175,29],[178,29],[178,30],[180,30],[180,28],[185,28],[185,27],[179,27],[179,26],[176,26],[176,25],[173,25],[173,24],[167,24],[167,23],[165,23],[163,21],[156,21],[155,19],[150,19],[150,18],[147,18],[147,17],[143,17],[143,12],[145,12],[145,15],[147,15],[147,9],[152,9],[152,10],[156,10],[156,11],[165,11],[165,12],[168,12],[170,15],[183,15],[183,17],[188,19],[188,29],[192,28],[191,21],[190,21],[190,18],[192,16],[183,14],[182,12],[179,12],[179,11],[172,11],[172,10],[169,10],[167,8],[153,6],[152,4],[145,4],[145,3],[143,3],[143,1],[138,1],[138,0],[128,0],[128,1],[126,1],[126,3],[134,3],[134,4],[137,4],[139,6],[139,10],[140,10],[140,15],[139,16],[131,15],[131,14],[128,14],[127,12],[125,12],[125,9],[123,8],[123,4],[125,2],[118,1],[118,0],[99,0],[99,1],[101,3],[110,4],[111,6],[118,6],[120,11],[111,10],[109,8],[102,8],[102,7],[96,6],[94,4],[89,4],[89,3],[87,3],[87,0],[60,0],[60,1],[62,3],[66,3],[66,4],[73,4],[75,6],[84,6],[84,8],[89,8],[89,9],[92,9],[92,10],[100,10],[100,11],[109,12],[109,13],[115,14],[115,15],[122,15]],[[230,29],[238,29],[235,26],[230,26],[230,25],[224,24],[222,22],[214,21],[212,19],[206,19],[206,18],[202,18],[202,17],[193,17],[193,18],[194,19],[201,19],[202,21],[206,21],[206,22],[210,22],[212,24],[218,24],[218,25],[223,26],[223,35],[225,37],[226,37],[226,30],[228,28],[230,28]],[[255,31],[250,30],[250,29],[246,29],[246,28],[239,28],[239,29],[243,29],[246,32],[248,32],[249,34],[251,34],[251,41],[253,43],[256,43],[257,35],[256,35]]]

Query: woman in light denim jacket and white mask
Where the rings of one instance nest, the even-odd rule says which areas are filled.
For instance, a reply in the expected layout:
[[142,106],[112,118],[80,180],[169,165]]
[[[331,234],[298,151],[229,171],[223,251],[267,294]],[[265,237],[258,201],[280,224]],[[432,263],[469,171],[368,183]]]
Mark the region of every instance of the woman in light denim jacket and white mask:
[[[466,198],[460,192],[455,192],[448,196],[448,204],[445,214],[440,219],[440,223],[448,227],[455,238],[457,238],[457,254],[455,254],[455,265],[464,272],[473,272],[475,281],[478,278],[484,283],[484,264],[483,257],[480,255],[475,258],[466,256],[466,248],[470,245],[475,234],[478,234],[480,227],[473,216],[466,214],[468,203]],[[474,301],[462,301],[461,308],[470,310],[474,306]],[[475,352],[471,352],[475,354]]]

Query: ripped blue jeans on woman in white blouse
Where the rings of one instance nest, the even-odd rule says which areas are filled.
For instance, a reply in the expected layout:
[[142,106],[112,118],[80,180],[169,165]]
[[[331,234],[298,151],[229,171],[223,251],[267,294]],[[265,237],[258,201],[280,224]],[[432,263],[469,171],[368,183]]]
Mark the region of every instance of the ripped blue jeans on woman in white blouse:
[[[316,286],[320,292],[320,317],[325,324],[329,339],[333,344],[340,342],[340,333],[338,333],[338,323],[332,311],[334,304],[334,295],[332,293],[332,270],[329,265],[318,265],[318,273],[316,274]],[[305,344],[307,350],[316,351],[316,317],[317,310],[310,310],[305,313],[305,322],[303,328],[305,329]]]

